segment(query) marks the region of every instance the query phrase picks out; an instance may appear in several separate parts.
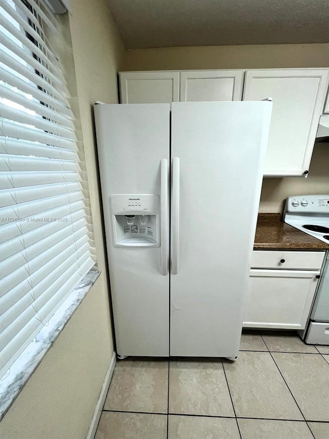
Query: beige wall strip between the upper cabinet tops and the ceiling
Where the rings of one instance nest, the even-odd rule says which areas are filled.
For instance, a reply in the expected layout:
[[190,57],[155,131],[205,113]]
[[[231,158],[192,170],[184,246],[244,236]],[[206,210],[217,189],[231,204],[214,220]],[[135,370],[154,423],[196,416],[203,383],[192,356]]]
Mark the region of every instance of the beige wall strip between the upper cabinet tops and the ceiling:
[[329,67],[329,43],[127,50],[123,70]]

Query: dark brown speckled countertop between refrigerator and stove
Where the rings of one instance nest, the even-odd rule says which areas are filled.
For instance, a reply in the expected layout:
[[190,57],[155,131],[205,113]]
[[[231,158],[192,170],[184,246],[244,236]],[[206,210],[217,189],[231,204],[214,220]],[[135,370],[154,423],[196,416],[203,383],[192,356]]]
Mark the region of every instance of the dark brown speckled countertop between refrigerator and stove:
[[281,221],[281,214],[258,214],[253,250],[329,250],[329,244]]

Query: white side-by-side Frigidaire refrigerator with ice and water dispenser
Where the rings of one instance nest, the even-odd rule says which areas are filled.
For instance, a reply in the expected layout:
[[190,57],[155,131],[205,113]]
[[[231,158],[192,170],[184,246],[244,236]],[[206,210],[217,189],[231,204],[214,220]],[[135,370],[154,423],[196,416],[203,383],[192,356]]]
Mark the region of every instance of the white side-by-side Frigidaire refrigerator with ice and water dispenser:
[[95,106],[119,358],[237,356],[271,108]]

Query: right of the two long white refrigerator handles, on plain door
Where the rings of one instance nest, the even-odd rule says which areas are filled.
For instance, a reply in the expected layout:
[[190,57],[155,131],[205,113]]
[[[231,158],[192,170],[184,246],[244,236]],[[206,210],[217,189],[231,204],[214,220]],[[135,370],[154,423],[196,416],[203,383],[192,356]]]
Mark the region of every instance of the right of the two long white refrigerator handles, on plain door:
[[173,157],[172,163],[172,266],[171,273],[178,273],[179,240],[179,158]]

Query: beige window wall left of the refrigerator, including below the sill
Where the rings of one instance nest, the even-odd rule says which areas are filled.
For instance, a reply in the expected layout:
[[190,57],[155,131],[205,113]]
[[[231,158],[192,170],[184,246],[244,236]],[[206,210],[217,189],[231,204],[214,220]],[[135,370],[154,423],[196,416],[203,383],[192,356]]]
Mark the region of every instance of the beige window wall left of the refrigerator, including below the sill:
[[96,173],[92,103],[117,102],[124,46],[106,0],[73,0],[72,47],[96,252],[102,270],[0,425],[4,439],[82,439],[113,353]]

